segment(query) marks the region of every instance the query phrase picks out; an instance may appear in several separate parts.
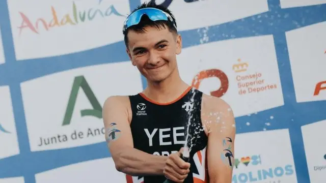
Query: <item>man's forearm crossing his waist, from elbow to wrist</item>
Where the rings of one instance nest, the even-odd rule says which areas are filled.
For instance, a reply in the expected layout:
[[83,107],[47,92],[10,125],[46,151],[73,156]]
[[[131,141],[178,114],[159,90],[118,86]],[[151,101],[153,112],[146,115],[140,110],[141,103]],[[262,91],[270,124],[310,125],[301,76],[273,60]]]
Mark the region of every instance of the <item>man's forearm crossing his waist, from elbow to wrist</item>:
[[116,157],[117,170],[129,175],[163,175],[166,156],[157,156],[128,147]]

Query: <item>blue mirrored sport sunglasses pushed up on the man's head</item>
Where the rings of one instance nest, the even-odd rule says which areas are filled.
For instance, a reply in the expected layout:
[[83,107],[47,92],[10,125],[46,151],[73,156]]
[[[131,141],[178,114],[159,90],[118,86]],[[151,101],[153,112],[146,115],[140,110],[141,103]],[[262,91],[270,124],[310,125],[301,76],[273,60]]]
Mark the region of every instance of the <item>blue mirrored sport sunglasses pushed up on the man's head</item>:
[[151,19],[152,21],[157,21],[157,20],[171,21],[173,22],[173,25],[176,27],[175,22],[173,21],[172,17],[168,13],[156,8],[144,8],[131,13],[127,17],[127,19],[123,24],[123,31],[125,31],[128,27],[132,25],[139,24],[143,15],[147,15],[148,18]]

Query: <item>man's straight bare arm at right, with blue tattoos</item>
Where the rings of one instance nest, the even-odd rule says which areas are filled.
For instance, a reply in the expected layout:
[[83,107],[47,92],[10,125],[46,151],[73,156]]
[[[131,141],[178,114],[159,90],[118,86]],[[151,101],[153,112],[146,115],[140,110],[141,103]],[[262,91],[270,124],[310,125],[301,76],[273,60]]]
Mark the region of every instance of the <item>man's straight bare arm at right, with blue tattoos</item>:
[[235,120],[222,99],[204,98],[202,118],[208,129],[208,173],[211,183],[231,183],[234,164]]

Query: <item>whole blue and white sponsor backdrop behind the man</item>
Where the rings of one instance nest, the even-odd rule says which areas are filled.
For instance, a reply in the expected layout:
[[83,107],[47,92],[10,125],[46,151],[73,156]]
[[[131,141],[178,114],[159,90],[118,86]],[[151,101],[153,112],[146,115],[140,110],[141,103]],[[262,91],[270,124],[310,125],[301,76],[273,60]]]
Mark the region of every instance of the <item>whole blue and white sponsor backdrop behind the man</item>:
[[[146,87],[122,35],[143,2],[0,0],[0,182],[126,182],[101,111]],[[326,0],[157,3],[181,77],[234,110],[233,183],[326,182]]]

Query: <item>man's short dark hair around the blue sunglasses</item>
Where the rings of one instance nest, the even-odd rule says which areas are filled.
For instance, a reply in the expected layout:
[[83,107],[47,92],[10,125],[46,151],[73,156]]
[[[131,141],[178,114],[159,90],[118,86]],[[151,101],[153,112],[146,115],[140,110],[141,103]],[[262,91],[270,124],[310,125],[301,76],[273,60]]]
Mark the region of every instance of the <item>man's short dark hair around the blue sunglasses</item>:
[[156,5],[155,1],[150,1],[148,3],[143,3],[142,5],[138,6],[136,9],[134,9],[131,13],[140,10],[140,9],[144,9],[144,8],[156,8],[159,10],[162,10],[166,13],[168,13],[173,22],[171,21],[166,21],[166,20],[157,20],[157,21],[152,21],[151,19],[149,19],[149,17],[147,15],[143,15],[141,21],[139,22],[139,24],[137,25],[132,25],[130,27],[128,27],[126,30],[123,31],[123,35],[124,35],[124,43],[126,44],[126,47],[128,48],[128,37],[127,34],[129,32],[129,30],[138,32],[138,33],[144,33],[145,32],[145,27],[146,26],[151,26],[151,27],[156,27],[157,29],[160,28],[166,28],[168,27],[169,31],[172,33],[178,33],[176,27],[177,27],[177,23],[176,20],[174,18],[174,15],[172,14],[172,12],[162,6],[162,5]]

